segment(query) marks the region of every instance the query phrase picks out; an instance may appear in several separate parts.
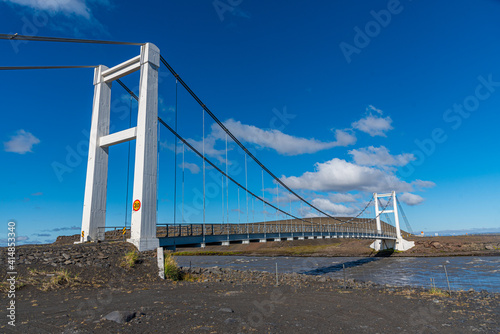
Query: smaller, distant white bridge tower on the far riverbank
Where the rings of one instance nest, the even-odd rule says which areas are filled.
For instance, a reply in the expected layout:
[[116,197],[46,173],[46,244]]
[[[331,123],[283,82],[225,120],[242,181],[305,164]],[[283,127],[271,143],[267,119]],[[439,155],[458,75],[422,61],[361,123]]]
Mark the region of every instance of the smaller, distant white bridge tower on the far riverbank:
[[[388,210],[387,208],[383,210],[379,210],[379,202],[378,199],[381,197],[390,197],[390,201],[392,202],[392,210]],[[401,236],[401,228],[399,226],[399,214],[398,214],[398,205],[396,200],[396,192],[393,191],[390,194],[373,194],[373,198],[375,200],[375,215],[377,222],[377,234],[380,237],[383,237],[384,233],[382,233],[382,226],[380,223],[380,215],[382,213],[393,213],[394,214],[394,224],[396,227],[396,240],[391,239],[376,239],[370,247],[376,251],[384,250],[384,249],[394,249],[397,251],[406,251],[415,246],[414,241],[404,240]]]

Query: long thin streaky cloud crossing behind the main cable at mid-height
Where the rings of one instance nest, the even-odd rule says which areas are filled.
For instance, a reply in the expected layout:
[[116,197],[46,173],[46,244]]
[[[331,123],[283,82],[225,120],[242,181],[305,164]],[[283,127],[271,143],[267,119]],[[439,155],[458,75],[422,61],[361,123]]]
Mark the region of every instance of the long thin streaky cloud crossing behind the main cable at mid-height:
[[[279,130],[262,130],[253,125],[242,124],[229,119],[224,125],[241,141],[256,144],[260,147],[272,148],[280,154],[298,155],[315,153],[336,146],[347,146],[356,142],[356,137],[344,130],[336,130],[336,141],[322,142],[314,138],[300,138],[287,135]],[[217,125],[212,125],[212,133],[218,139],[225,138],[225,133]]]

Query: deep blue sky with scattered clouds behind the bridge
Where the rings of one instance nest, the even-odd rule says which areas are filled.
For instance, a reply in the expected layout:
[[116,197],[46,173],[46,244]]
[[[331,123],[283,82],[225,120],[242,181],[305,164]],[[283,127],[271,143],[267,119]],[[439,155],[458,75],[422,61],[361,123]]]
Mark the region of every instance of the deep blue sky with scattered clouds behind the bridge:
[[[141,6],[114,0],[3,0],[0,32],[156,44],[261,161],[333,215],[356,212],[372,192],[395,190],[416,231],[499,230],[499,14],[496,0]],[[113,66],[139,53],[135,46],[19,41],[0,41],[0,50],[2,66]],[[160,70],[159,113],[173,124],[175,80]],[[93,72],[1,75],[4,230],[15,219],[19,240],[26,243],[79,233]],[[138,75],[123,81],[134,89]],[[112,101],[114,129],[127,128],[137,105],[116,84]],[[201,109],[180,87],[178,115],[180,134],[199,142]],[[207,155],[222,167],[224,136],[206,121]],[[164,129],[160,140],[162,223],[173,219],[174,141]],[[234,175],[244,183],[244,169],[237,173],[236,168],[244,166],[243,155],[234,144],[229,149]],[[110,150],[108,226],[123,225],[125,219],[127,152],[128,144]],[[177,158],[179,165],[182,155]],[[189,152],[185,160],[188,207],[195,206],[202,189],[201,163]],[[260,194],[261,172],[248,166],[249,188]],[[178,168],[178,203],[181,174]],[[276,196],[270,178],[264,188],[266,198]],[[214,194],[207,221],[216,222],[222,197],[219,189]],[[280,198],[284,205],[281,190]],[[238,221],[234,186],[229,199],[230,221]],[[239,219],[246,221],[242,192],[240,202]],[[314,214],[296,202],[286,205],[294,213]],[[254,211],[262,215],[257,204]],[[186,216],[200,221],[199,210]]]

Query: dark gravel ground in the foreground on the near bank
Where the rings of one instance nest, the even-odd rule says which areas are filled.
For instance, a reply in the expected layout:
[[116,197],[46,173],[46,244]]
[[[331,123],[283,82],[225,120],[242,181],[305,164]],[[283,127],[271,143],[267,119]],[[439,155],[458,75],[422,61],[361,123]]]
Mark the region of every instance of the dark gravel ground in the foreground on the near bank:
[[[500,333],[500,295],[486,291],[450,297],[353,281],[346,289],[298,274],[280,275],[277,286],[270,273],[221,268],[186,269],[193,281],[172,282],[157,277],[155,252],[121,266],[130,250],[126,243],[19,247],[16,326],[2,307],[0,332]],[[60,271],[69,281],[53,282]],[[103,319],[113,311],[129,321]]]

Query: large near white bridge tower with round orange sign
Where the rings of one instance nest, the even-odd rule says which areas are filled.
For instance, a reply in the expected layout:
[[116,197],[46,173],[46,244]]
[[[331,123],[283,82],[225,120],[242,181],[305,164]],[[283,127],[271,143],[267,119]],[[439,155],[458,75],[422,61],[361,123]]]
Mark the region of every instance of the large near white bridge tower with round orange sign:
[[[131,238],[139,251],[159,246],[156,237],[158,68],[160,50],[151,43],[141,54],[113,68],[99,66],[94,73],[94,104],[90,130],[87,179],[80,242],[104,239],[108,148],[136,140]],[[141,71],[137,126],[109,134],[111,84]]]

